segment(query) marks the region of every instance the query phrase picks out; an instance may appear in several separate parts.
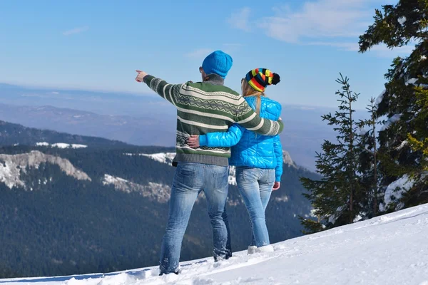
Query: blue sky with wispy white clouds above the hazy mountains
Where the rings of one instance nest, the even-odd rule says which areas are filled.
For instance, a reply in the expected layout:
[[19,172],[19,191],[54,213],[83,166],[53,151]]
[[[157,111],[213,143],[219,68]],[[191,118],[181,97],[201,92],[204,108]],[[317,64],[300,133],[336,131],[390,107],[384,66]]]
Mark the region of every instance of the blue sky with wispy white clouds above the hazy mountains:
[[[267,95],[282,103],[335,106],[342,72],[361,93],[358,108],[383,90],[394,56],[357,53],[374,9],[390,0],[0,1],[0,82],[151,93],[135,70],[170,83],[199,81],[211,51],[233,56],[226,85],[256,67],[282,81]],[[61,95],[61,94],[58,94]]]

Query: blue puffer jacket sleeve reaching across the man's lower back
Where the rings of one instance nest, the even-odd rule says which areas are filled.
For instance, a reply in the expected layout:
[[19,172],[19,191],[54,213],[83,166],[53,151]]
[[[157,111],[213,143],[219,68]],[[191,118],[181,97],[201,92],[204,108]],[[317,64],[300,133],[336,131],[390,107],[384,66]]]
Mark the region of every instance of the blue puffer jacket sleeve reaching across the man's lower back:
[[227,132],[208,133],[199,136],[199,145],[207,147],[231,147],[243,137],[244,129],[233,124]]

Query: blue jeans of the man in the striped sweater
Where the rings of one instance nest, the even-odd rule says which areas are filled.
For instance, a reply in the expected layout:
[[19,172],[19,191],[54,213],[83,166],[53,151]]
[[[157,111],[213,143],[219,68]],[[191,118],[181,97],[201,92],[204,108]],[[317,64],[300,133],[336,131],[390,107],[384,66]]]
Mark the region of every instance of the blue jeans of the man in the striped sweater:
[[181,243],[190,212],[201,191],[205,193],[208,216],[213,228],[214,259],[218,261],[232,256],[228,215],[225,211],[228,176],[229,167],[178,162],[171,189],[168,224],[162,240],[161,274],[178,269]]

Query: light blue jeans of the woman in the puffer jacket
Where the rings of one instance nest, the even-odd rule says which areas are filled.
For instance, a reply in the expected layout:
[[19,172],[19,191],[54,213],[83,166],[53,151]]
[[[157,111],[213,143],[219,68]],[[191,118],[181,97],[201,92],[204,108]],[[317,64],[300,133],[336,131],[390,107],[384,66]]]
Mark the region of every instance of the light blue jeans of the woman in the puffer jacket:
[[250,215],[252,228],[250,245],[263,247],[270,244],[265,210],[275,183],[275,170],[236,167],[236,183]]

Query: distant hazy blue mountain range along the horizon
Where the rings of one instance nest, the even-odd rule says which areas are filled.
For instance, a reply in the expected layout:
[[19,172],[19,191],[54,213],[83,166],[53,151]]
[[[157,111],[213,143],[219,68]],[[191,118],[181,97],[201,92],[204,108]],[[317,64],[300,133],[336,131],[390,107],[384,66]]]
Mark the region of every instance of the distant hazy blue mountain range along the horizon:
[[[335,140],[321,115],[335,109],[282,103],[282,146],[298,165],[315,170],[315,152]],[[357,110],[357,118],[365,111]],[[151,94],[30,88],[0,83],[0,120],[32,128],[121,140],[132,145],[175,145],[176,110]]]

